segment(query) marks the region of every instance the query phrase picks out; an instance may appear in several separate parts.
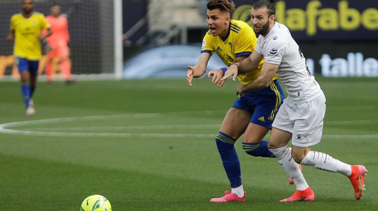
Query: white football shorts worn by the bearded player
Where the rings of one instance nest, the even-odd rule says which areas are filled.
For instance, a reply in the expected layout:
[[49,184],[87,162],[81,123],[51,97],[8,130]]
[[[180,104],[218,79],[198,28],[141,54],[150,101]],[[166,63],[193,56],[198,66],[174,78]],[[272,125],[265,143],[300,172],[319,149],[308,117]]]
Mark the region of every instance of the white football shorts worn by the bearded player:
[[283,100],[272,126],[293,134],[291,143],[294,146],[307,147],[320,142],[325,115],[325,96],[305,103],[294,104]]

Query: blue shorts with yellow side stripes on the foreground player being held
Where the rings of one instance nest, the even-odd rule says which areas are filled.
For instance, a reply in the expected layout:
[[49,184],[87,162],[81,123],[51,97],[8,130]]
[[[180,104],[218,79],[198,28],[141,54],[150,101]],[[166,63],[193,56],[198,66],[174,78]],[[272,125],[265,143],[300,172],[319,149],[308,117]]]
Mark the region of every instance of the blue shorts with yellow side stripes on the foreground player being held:
[[232,108],[241,108],[251,113],[249,122],[272,128],[274,117],[284,99],[283,91],[277,80],[257,92],[248,92],[238,96]]

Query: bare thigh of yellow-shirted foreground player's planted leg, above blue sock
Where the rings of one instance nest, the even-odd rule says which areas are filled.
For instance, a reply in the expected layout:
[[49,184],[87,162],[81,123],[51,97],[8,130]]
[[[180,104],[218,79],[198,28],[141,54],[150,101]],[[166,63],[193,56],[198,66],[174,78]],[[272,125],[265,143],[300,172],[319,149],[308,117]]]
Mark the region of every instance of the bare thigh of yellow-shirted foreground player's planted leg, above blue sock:
[[220,131],[234,139],[238,139],[246,130],[251,114],[241,108],[230,108],[223,119]]

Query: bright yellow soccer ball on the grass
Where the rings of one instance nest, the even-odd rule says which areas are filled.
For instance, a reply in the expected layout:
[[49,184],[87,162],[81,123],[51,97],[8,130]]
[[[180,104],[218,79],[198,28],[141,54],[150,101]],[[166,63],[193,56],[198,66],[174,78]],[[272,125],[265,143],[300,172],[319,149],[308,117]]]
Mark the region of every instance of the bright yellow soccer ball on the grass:
[[92,195],[84,199],[80,211],[112,211],[112,205],[105,197]]

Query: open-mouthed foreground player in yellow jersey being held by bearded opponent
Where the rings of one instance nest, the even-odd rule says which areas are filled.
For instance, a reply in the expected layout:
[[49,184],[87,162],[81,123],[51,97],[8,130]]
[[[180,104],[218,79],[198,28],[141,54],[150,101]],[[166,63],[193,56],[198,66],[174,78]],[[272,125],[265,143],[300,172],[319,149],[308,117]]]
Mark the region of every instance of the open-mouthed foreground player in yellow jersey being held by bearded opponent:
[[[247,23],[231,20],[230,13],[234,10],[234,6],[234,3],[228,0],[207,2],[206,15],[210,30],[203,38],[198,63],[188,66],[186,79],[189,86],[192,86],[193,77],[201,77],[206,72],[206,66],[214,52],[229,66],[247,58],[257,45],[256,35]],[[257,68],[238,75],[240,82],[246,85],[256,79],[260,75],[262,65],[263,60]],[[212,82],[216,84],[225,71],[226,68],[210,71],[208,77],[214,75]],[[235,141],[244,132],[242,146],[246,153],[252,156],[274,157],[268,150],[268,142],[262,139],[271,129],[273,119],[283,100],[283,91],[276,79],[277,76],[268,87],[258,92],[239,95],[227,112],[215,142],[231,183],[231,191],[225,191],[225,196],[211,199],[211,202],[245,200],[240,162],[234,148]],[[218,86],[222,85],[223,82],[218,82]]]

